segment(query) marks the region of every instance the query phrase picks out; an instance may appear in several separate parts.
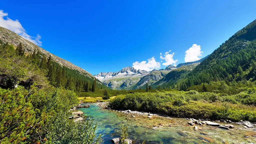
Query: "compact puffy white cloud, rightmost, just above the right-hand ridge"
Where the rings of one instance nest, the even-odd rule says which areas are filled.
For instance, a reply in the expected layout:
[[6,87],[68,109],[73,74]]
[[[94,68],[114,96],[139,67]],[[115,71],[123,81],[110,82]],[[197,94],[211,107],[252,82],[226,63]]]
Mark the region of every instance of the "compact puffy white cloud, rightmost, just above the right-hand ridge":
[[197,44],[193,44],[192,47],[186,50],[186,55],[185,55],[185,62],[191,62],[191,61],[196,61],[201,58],[199,56],[202,56],[201,52],[201,46]]

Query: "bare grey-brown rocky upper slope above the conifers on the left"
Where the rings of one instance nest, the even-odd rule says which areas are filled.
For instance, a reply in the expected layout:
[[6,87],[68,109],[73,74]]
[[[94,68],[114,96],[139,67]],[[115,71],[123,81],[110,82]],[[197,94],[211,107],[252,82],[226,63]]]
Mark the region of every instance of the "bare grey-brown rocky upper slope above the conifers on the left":
[[51,58],[53,61],[57,62],[61,66],[65,66],[70,69],[74,69],[79,71],[81,74],[92,77],[92,74],[90,74],[88,71],[70,63],[69,61],[62,59],[54,54],[49,53],[45,49],[35,45],[32,42],[29,42],[28,40],[24,39],[23,37],[19,36],[18,34],[12,32],[11,30],[8,30],[6,28],[0,27],[0,39],[6,43],[13,44],[14,46],[17,46],[19,43],[22,43],[25,47],[25,53],[33,53],[34,50],[39,50],[42,54],[49,57],[51,55]]

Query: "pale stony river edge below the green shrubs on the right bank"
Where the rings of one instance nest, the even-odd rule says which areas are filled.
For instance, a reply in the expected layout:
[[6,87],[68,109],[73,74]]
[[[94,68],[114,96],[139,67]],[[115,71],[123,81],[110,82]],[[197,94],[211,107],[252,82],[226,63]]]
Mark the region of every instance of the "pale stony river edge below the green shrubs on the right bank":
[[[99,102],[96,103],[98,106],[101,106],[105,109],[110,109],[108,107],[108,102]],[[111,109],[110,109],[111,110]],[[169,116],[166,115],[159,115],[159,114],[152,114],[150,112],[140,112],[140,111],[132,111],[132,110],[113,110],[113,111],[117,111],[117,112],[123,112],[124,114],[131,114],[131,117],[135,117],[134,115],[147,115],[148,118],[152,118],[152,117],[161,117],[161,118],[167,118],[167,119],[172,119]],[[134,115],[133,115],[134,114]],[[210,119],[194,119],[194,118],[184,118],[186,120],[189,120],[187,122],[188,125],[193,126],[195,130],[198,130],[198,126],[203,126],[203,125],[210,125],[210,126],[216,126],[222,129],[244,129],[244,130],[253,130],[256,131],[256,123],[252,123],[249,121],[238,121],[238,122],[233,122],[231,120],[215,120],[215,121],[210,121]],[[218,122],[220,122],[221,124],[219,124]],[[242,126],[242,128],[240,127],[235,127],[234,125],[238,125],[238,126]],[[153,127],[154,128],[154,127]]]

